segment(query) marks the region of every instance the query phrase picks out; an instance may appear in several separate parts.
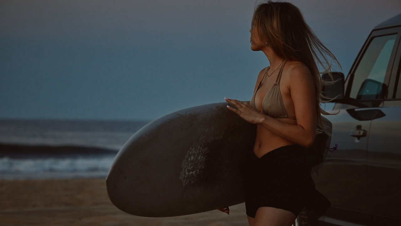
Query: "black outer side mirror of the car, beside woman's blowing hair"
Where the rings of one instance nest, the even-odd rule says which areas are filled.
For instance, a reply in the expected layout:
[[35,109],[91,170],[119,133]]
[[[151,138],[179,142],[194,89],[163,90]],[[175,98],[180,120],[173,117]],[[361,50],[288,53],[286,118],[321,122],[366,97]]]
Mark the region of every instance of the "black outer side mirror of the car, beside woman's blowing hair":
[[344,74],[341,72],[332,72],[332,78],[329,74],[322,75],[322,81],[334,82],[334,84],[323,85],[322,94],[327,97],[329,102],[337,102],[344,99]]

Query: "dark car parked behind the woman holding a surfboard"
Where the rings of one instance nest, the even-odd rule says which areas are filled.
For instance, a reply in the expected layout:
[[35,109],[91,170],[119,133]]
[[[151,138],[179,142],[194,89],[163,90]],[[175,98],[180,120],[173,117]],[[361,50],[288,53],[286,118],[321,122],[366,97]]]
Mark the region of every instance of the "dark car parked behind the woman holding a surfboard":
[[398,14],[372,30],[345,81],[334,73],[342,79],[324,87],[337,97],[325,117],[338,149],[312,177],[332,207],[304,210],[296,225],[401,225],[400,36]]

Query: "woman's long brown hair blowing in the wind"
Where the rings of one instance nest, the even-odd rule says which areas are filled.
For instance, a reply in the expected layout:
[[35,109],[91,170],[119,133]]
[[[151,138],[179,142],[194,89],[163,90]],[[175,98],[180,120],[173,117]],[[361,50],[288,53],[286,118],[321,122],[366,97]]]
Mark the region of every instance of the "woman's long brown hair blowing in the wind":
[[[300,61],[309,68],[315,86],[318,127],[326,132],[321,114],[331,113],[320,107],[320,103],[328,100],[322,95],[322,85],[332,82],[322,81],[320,74],[328,73],[331,76],[328,59],[331,58],[340,66],[336,57],[306,24],[299,8],[289,2],[269,0],[258,4],[253,13],[251,29],[257,29],[261,43],[269,45],[279,57]],[[319,72],[318,64],[324,69],[323,72]]]

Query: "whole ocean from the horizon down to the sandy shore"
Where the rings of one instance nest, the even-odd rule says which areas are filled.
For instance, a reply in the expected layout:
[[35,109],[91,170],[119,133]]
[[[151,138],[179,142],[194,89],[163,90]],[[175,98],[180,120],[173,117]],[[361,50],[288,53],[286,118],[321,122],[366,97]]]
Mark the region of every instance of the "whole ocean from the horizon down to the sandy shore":
[[0,179],[105,178],[148,122],[0,119]]

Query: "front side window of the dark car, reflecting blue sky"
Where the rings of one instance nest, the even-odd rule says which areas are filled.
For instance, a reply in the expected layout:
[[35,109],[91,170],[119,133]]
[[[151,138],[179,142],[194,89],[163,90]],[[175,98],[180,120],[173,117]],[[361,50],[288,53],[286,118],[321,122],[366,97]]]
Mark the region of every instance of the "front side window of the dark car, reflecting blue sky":
[[387,92],[383,84],[397,35],[375,37],[354,72],[350,98],[382,99]]

